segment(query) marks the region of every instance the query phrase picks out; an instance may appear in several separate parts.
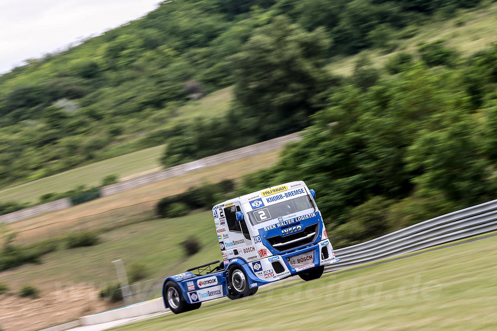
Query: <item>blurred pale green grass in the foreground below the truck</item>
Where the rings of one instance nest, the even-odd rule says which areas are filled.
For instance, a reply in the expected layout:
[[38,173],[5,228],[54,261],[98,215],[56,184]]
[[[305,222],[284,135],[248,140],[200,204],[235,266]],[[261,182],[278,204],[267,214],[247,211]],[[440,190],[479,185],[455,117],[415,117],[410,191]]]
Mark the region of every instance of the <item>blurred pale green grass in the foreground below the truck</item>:
[[497,237],[109,330],[494,330]]

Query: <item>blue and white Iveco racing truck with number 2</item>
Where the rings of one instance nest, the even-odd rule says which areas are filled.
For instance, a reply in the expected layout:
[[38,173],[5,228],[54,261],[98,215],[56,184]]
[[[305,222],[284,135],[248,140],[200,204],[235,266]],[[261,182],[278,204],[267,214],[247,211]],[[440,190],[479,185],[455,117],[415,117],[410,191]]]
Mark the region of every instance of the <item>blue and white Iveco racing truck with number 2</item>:
[[212,208],[223,262],[214,261],[167,277],[166,308],[179,314],[204,301],[255,294],[259,286],[298,275],[321,277],[337,263],[316,193],[303,181],[270,187]]

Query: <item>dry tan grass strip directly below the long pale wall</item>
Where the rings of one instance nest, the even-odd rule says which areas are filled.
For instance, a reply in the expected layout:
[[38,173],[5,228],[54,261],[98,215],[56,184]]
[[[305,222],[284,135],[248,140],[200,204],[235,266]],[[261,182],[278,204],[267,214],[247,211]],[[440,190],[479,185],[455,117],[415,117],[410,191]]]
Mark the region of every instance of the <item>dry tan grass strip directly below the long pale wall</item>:
[[[8,224],[4,231],[24,231],[41,225],[74,219],[74,221],[19,233],[17,238],[20,243],[27,244],[33,240],[61,235],[75,229],[98,230],[102,227],[113,227],[119,222],[127,222],[128,219],[131,222],[148,220],[154,216],[156,200],[181,193],[191,186],[207,182],[217,183],[224,179],[235,179],[257,169],[269,167],[277,161],[280,152],[281,149],[272,150],[218,166],[192,171],[183,176],[14,222]],[[109,211],[111,209],[113,210]],[[88,215],[94,216],[85,217]]]

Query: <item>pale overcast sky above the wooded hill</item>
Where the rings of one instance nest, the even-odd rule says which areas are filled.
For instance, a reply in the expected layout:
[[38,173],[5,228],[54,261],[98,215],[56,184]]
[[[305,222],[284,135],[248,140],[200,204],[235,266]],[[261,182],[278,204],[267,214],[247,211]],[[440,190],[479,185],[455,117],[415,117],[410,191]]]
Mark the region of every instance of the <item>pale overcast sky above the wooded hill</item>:
[[155,9],[161,0],[0,0],[0,73]]

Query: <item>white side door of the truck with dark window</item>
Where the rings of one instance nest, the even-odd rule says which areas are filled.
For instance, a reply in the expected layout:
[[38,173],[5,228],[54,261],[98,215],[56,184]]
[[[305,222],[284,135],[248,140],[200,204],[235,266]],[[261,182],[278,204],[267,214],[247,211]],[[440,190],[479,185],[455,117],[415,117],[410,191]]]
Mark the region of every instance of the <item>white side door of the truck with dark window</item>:
[[231,252],[234,253],[233,255],[229,256],[230,259],[240,256],[243,252],[242,247],[252,245],[246,220],[242,220],[241,222],[237,221],[237,211],[242,211],[239,202],[229,203],[224,208],[226,225],[229,229],[229,238],[224,239],[224,245],[228,254],[230,254]]

